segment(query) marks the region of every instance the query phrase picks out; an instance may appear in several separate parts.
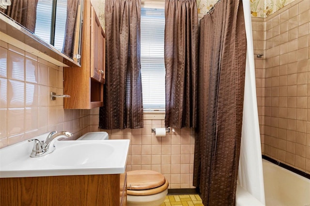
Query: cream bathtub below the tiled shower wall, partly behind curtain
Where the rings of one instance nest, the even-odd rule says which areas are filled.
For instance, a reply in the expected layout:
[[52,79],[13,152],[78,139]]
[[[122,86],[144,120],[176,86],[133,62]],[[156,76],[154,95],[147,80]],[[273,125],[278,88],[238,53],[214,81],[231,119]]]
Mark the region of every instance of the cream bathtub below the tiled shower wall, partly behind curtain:
[[[266,206],[310,206],[310,179],[263,160]],[[236,206],[263,206],[237,185]]]

